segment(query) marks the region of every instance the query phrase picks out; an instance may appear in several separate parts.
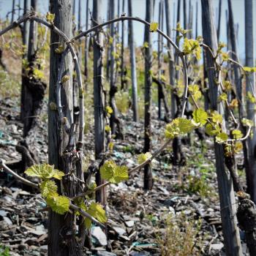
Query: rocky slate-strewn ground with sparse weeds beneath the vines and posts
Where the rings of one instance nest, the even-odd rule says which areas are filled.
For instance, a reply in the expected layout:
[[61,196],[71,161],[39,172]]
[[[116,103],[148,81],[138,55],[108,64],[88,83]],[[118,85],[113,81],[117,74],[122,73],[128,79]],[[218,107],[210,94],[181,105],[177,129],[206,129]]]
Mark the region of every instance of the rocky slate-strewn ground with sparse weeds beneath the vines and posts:
[[[40,132],[34,135],[41,162],[47,161],[48,154],[46,113],[45,103]],[[135,124],[127,116],[122,118],[125,138],[116,141],[111,157],[118,164],[134,167],[135,155],[143,150],[143,124]],[[165,123],[155,119],[152,122],[153,148],[157,149],[163,142]],[[92,131],[90,127],[86,134],[88,165],[94,161]],[[17,100],[1,100],[0,158],[12,166],[20,161],[15,145],[21,136]],[[93,248],[85,255],[161,255],[161,245],[166,247],[175,242],[176,246],[182,246],[189,239],[194,244],[191,255],[225,255],[212,143],[207,140],[201,144],[192,135],[192,146],[183,146],[183,150],[187,155],[185,167],[173,167],[171,147],[152,162],[154,189],[151,191],[143,190],[143,170],[134,173],[129,181],[108,188],[108,239],[112,252],[106,251],[105,233],[94,226]],[[4,247],[9,248],[10,255],[47,255],[45,206],[41,195],[0,172],[0,255],[4,255]],[[176,233],[166,233],[167,227],[179,228]],[[242,233],[241,238],[244,238]]]

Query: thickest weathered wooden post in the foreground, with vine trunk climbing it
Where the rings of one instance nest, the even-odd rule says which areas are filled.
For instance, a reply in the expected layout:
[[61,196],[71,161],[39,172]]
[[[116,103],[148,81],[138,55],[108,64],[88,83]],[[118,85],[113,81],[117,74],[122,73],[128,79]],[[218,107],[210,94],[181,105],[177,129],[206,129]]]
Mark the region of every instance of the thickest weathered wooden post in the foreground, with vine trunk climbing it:
[[[50,0],[50,13],[55,14],[54,25],[64,32],[67,37],[72,37],[72,4],[71,0]],[[55,53],[58,48],[56,42],[61,38],[51,32],[50,34],[50,83],[49,83],[49,107],[50,103],[56,103],[56,84],[58,81],[61,55]],[[64,56],[64,75],[69,75],[69,80],[61,86],[61,105],[64,116],[69,124],[73,123],[72,102],[72,57],[68,53]],[[48,112],[48,151],[49,164],[54,165],[64,173],[71,171],[72,152],[65,152],[69,135],[59,120],[58,111],[49,108]],[[71,155],[71,156],[70,156]],[[69,177],[69,176],[67,176]],[[74,196],[75,184],[64,179],[59,186],[59,192],[65,189],[67,196]],[[80,242],[75,239],[75,214],[59,215],[49,211],[48,222],[48,256],[76,256],[82,255]]]

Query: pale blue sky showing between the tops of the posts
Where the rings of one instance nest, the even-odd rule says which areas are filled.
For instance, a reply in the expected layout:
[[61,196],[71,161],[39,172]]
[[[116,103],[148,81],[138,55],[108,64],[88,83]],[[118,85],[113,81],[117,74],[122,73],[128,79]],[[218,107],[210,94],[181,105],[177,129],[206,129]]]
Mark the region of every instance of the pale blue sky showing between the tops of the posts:
[[[23,0],[15,0],[16,4],[20,1],[20,5],[23,6]],[[39,1],[39,12],[42,12],[42,14],[45,14],[48,12],[48,0],[38,0]],[[78,14],[78,0],[76,1],[76,15]],[[82,1],[82,8],[86,10],[86,0]],[[90,10],[92,10],[92,1],[89,0],[89,6]],[[108,9],[108,0],[101,0],[102,1],[102,18],[104,20],[107,20],[107,9]],[[117,15],[117,2],[116,1],[116,15]],[[120,1],[120,13],[121,15],[121,3],[123,0]],[[189,0],[187,1],[187,8],[189,7]],[[194,26],[195,26],[195,8],[196,3],[198,2],[198,34],[202,34],[201,31],[201,8],[200,8],[200,0],[191,0],[193,13],[194,13]],[[214,5],[214,15],[215,20],[217,22],[217,15],[218,15],[218,5],[219,0],[212,0]],[[127,0],[125,0],[125,11],[127,13]],[[155,7],[154,7],[154,18],[152,21],[158,21],[158,10],[159,10],[159,0],[155,0]],[[256,14],[256,0],[252,0],[253,3],[253,13]],[[241,59],[241,61],[244,60],[245,56],[245,49],[244,49],[244,0],[232,0],[233,4],[233,15],[234,15],[234,21],[236,24],[238,24],[238,40],[237,40],[237,48],[238,48],[238,56]],[[171,20],[171,27],[173,28],[173,20],[176,20],[176,14],[177,14],[177,0],[170,0],[170,20]],[[10,12],[12,10],[12,0],[0,0],[0,18],[4,18],[7,15],[7,12]],[[227,10],[227,0],[222,0],[222,17],[221,17],[221,33],[220,33],[220,41],[226,42],[226,10]],[[146,11],[146,0],[132,0],[132,12],[133,16],[139,17],[142,19],[145,19],[145,12]],[[174,17],[173,17],[174,16]],[[181,25],[183,24],[183,1],[181,1]],[[253,29],[254,29],[254,38],[256,36],[256,15],[253,15]],[[17,17],[17,16],[16,16]],[[173,19],[174,18],[174,19]],[[85,26],[86,23],[86,12],[82,11],[82,25]],[[165,23],[165,21],[164,21]],[[120,25],[121,26],[121,25]],[[125,24],[127,28],[127,22]],[[166,31],[166,26],[164,25],[164,31]],[[193,29],[195,31],[195,28]],[[135,23],[134,25],[134,33],[135,33],[135,43],[137,46],[143,45],[143,33],[144,33],[144,26],[140,23]],[[127,33],[128,34],[128,33]],[[173,32],[174,35],[174,32]],[[194,34],[195,37],[195,34]],[[127,36],[126,36],[126,42],[127,42]],[[157,34],[153,35],[153,42],[154,42],[154,48],[157,48]],[[254,44],[256,45],[256,44]],[[256,47],[254,48],[256,50]],[[256,56],[254,51],[254,56]]]

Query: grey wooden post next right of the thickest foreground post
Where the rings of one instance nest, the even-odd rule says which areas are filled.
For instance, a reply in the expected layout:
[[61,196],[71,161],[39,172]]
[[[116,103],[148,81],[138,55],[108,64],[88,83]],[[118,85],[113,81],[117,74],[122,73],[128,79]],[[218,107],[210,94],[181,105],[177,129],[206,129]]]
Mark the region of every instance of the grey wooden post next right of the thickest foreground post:
[[[102,1],[94,0],[93,2],[93,24],[101,23]],[[95,143],[95,159],[100,159],[101,154],[105,152],[105,96],[103,92],[103,64],[102,64],[102,34],[96,31],[94,36],[94,143]],[[102,184],[99,170],[96,173],[96,184]],[[105,197],[104,189],[96,192],[97,202],[103,202]]]

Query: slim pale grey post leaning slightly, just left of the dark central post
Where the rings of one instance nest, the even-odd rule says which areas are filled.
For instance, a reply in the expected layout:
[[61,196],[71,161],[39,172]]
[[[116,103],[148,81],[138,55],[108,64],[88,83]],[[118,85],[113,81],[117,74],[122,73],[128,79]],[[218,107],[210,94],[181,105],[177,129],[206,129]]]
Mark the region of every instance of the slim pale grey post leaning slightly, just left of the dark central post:
[[[128,0],[128,15],[132,17],[132,0]],[[124,34],[124,21],[122,23],[122,36]],[[138,86],[137,86],[137,72],[136,72],[136,53],[135,53],[135,42],[134,42],[134,35],[133,35],[133,23],[132,20],[128,21],[128,29],[129,29],[129,56],[130,56],[130,63],[131,63],[131,77],[132,77],[132,111],[133,111],[133,121],[139,121],[139,114],[138,114]],[[124,44],[124,40],[122,40]],[[122,45],[124,47],[124,45]],[[122,64],[124,64],[124,52],[121,56]],[[124,67],[123,67],[124,69]]]

